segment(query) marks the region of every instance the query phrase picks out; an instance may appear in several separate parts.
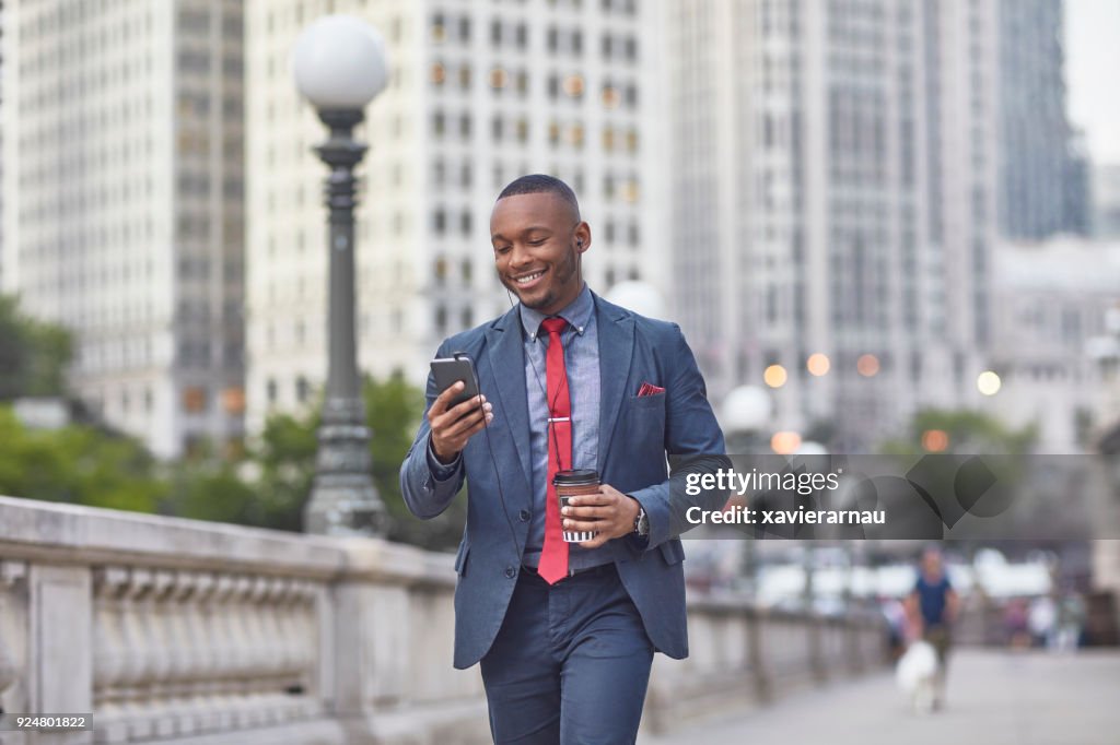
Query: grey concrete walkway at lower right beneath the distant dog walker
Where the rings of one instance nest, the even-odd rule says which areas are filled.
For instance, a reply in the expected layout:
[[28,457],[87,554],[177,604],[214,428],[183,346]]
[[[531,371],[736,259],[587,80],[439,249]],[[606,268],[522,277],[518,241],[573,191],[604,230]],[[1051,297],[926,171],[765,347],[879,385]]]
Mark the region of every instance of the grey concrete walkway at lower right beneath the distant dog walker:
[[1118,745],[1120,652],[958,650],[948,706],[909,711],[890,671],[804,689],[640,745]]

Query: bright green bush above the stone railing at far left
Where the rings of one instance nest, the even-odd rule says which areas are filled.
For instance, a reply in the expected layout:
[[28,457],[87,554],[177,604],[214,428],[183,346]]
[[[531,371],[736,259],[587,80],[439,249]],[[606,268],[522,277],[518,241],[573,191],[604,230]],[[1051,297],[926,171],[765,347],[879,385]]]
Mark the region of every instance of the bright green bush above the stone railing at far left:
[[167,485],[143,445],[85,425],[29,430],[0,405],[0,494],[153,512]]

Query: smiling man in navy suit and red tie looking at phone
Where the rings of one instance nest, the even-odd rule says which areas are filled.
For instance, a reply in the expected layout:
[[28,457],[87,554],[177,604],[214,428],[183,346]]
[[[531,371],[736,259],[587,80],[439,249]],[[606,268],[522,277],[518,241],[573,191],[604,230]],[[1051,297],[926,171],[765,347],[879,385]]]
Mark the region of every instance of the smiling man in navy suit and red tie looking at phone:
[[[567,185],[515,180],[491,234],[521,302],[440,346],[474,360],[480,395],[451,406],[461,384],[428,378],[404,500],[431,518],[468,483],[455,667],[480,661],[494,741],[633,743],[653,652],[688,654],[678,536],[689,507],[727,493],[689,497],[684,480],[730,468],[724,436],[680,328],[584,284],[591,229]],[[549,477],[571,468],[601,485],[560,515]],[[598,535],[564,544],[561,522]]]

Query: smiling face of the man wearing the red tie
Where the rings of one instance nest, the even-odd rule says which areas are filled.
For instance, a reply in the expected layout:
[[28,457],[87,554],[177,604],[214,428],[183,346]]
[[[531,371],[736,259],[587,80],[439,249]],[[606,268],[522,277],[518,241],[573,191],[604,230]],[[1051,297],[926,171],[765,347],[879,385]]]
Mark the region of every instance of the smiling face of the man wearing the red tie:
[[579,295],[579,255],[590,247],[591,233],[560,197],[500,199],[491,213],[491,243],[498,279],[529,308],[551,315]]

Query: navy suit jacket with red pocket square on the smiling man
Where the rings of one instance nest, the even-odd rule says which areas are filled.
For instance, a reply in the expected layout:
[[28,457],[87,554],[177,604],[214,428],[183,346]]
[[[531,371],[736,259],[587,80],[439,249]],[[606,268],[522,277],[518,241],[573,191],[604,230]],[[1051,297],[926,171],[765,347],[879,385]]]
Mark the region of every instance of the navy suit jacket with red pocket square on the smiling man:
[[[637,499],[650,517],[644,547],[631,537],[615,539],[626,544],[616,554],[624,557],[616,560],[618,575],[654,648],[679,659],[688,656],[688,634],[684,550],[678,536],[692,527],[685,519],[688,508],[719,509],[728,497],[715,490],[690,497],[684,479],[690,472],[715,472],[731,463],[680,327],[592,296],[601,380],[598,471],[604,483]],[[475,361],[482,393],[493,404],[488,442],[485,432],[470,437],[458,475],[437,481],[428,466],[426,416],[401,465],[401,490],[409,509],[427,519],[442,512],[464,478],[467,481],[467,525],[455,559],[455,667],[463,669],[486,654],[502,626],[529,535],[522,511],[533,507],[517,308],[446,340],[437,357],[456,351]],[[643,383],[665,392],[638,397]],[[429,375],[429,407],[437,395]]]

